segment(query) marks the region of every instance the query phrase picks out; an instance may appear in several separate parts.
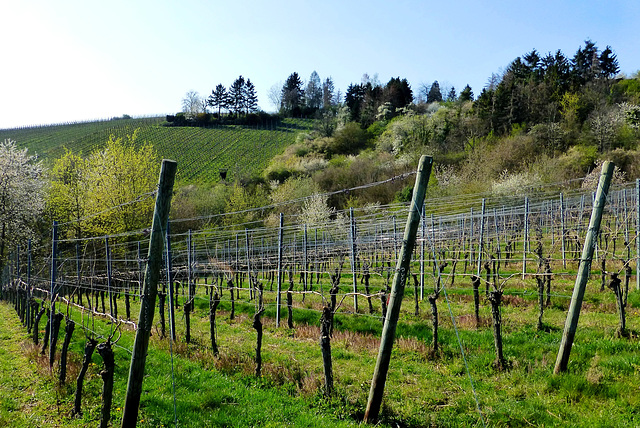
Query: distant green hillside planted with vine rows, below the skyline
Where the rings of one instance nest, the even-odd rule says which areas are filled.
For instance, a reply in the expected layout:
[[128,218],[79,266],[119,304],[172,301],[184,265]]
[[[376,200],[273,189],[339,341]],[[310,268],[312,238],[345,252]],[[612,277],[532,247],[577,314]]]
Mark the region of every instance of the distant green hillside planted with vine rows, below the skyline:
[[259,174],[271,158],[295,141],[311,120],[285,119],[263,127],[223,125],[209,128],[169,127],[162,117],[114,119],[0,130],[0,141],[15,140],[45,163],[64,154],[65,147],[84,155],[101,147],[110,135],[124,137],[138,130],[139,143],[150,142],[159,157],[178,162],[182,183],[213,183],[220,170],[228,179]]

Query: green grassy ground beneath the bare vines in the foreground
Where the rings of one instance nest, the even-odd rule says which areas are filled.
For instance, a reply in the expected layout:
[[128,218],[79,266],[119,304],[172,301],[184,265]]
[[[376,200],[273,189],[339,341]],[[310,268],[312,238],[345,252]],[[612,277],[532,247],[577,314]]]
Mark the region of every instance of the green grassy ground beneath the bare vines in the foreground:
[[[594,279],[597,275],[594,275]],[[348,283],[348,281],[345,281]],[[631,337],[616,336],[617,314],[610,291],[589,284],[572,349],[569,370],[553,375],[572,282],[554,281],[552,305],[544,314],[545,329],[535,327],[538,314],[531,281],[512,281],[502,308],[506,370],[493,366],[495,352],[490,311],[482,303],[482,324],[473,321],[468,286],[449,289],[438,300],[440,351],[431,348],[428,304],[413,314],[409,292],[403,306],[398,339],[385,390],[380,426],[638,426],[640,425],[640,293],[629,296]],[[408,290],[410,291],[410,290]],[[294,329],[275,327],[275,308],[264,320],[263,375],[254,372],[254,304],[246,291],[229,319],[229,302],[218,311],[220,356],[209,350],[208,298],[199,289],[192,314],[192,343],[184,343],[184,314],[177,312],[178,341],[169,348],[157,328],[152,336],[145,378],[140,426],[173,426],[174,394],[179,426],[355,426],[364,413],[373,365],[379,346],[379,315],[338,315],[332,339],[336,391],[322,395],[320,302],[296,297]],[[347,304],[349,306],[350,304]],[[364,299],[361,308],[366,307]],[[375,305],[376,310],[379,304]],[[135,308],[134,308],[135,309]],[[134,313],[136,313],[134,311]],[[286,313],[286,311],[283,311]],[[79,314],[72,311],[79,320]],[[69,416],[73,385],[56,388],[48,364],[29,344],[15,311],[0,305],[0,424],[10,426],[85,426],[99,416],[101,359],[95,355],[86,382],[86,413]],[[44,323],[42,323],[44,324]],[[283,321],[286,325],[286,321]],[[42,326],[41,326],[42,327]],[[99,320],[95,330],[108,334]],[[457,333],[456,333],[457,332]],[[459,336],[458,336],[459,335]],[[458,341],[458,337],[460,341]],[[75,379],[84,340],[76,332],[72,342]],[[464,350],[464,358],[460,351]],[[119,423],[132,347],[125,331],[115,348],[116,384],[112,418]],[[173,355],[173,376],[172,359]],[[57,363],[56,363],[57,367]],[[74,368],[75,367],[75,368]],[[70,382],[73,384],[73,382]],[[477,402],[476,402],[477,399]],[[478,410],[479,409],[479,410]]]

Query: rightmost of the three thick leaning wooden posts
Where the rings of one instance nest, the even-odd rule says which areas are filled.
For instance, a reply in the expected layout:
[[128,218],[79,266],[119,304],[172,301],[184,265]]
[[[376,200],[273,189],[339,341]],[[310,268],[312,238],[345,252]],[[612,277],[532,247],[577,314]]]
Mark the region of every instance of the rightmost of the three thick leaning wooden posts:
[[566,371],[567,364],[569,363],[569,354],[571,353],[571,346],[573,345],[573,339],[578,327],[580,308],[582,306],[582,299],[584,298],[587,280],[589,279],[593,250],[596,245],[598,233],[600,232],[600,221],[602,220],[602,212],[604,211],[604,205],[607,201],[607,194],[609,192],[609,185],[611,184],[611,177],[613,176],[613,169],[614,164],[612,162],[606,161],[602,164],[602,172],[600,174],[598,190],[593,204],[593,211],[591,212],[589,229],[587,230],[587,236],[584,240],[582,257],[580,258],[580,266],[578,267],[578,275],[576,276],[576,283],[573,287],[573,295],[571,296],[569,312],[564,325],[564,332],[562,333],[562,342],[560,343],[560,350],[558,351],[556,365],[553,369],[555,374]]

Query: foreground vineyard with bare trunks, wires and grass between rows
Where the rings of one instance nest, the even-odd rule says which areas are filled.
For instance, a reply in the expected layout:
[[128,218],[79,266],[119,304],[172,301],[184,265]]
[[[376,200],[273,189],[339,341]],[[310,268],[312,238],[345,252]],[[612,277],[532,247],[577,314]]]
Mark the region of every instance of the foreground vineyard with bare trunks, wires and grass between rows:
[[[558,374],[553,362],[587,261],[596,192],[563,183],[527,197],[425,201],[381,426],[640,423],[639,185],[603,198],[583,318],[568,370]],[[139,425],[357,425],[411,210],[351,209],[322,224],[281,215],[275,228],[179,234],[171,227],[189,219],[169,222]],[[38,347],[33,358],[66,385],[58,387],[62,403],[76,418],[65,423],[120,423],[133,335],[144,323],[137,313],[152,264],[148,231],[81,240],[59,240],[56,231],[52,243],[15,249],[2,297]],[[102,357],[100,376],[90,344]],[[69,349],[75,396],[62,374]]]

